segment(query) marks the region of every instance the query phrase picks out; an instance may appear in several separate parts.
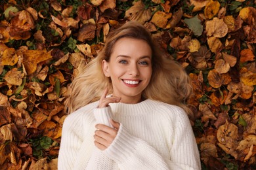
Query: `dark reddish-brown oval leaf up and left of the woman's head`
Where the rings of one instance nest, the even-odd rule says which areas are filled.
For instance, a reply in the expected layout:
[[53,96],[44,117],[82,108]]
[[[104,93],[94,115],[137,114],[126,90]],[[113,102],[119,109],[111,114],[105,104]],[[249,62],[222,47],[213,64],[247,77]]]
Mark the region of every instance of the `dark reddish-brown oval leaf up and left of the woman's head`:
[[81,29],[79,29],[77,40],[83,42],[85,40],[94,39],[95,29],[96,29],[95,24],[91,24],[91,23],[83,24]]

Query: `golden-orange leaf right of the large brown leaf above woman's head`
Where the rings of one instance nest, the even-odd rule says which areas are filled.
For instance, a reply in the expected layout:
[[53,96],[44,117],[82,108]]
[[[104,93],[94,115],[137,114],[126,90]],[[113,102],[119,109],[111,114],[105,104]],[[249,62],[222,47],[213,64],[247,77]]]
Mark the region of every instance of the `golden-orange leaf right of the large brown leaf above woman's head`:
[[163,11],[158,10],[152,17],[151,22],[154,23],[156,26],[165,28],[168,19],[171,18],[172,14],[171,13],[165,13]]

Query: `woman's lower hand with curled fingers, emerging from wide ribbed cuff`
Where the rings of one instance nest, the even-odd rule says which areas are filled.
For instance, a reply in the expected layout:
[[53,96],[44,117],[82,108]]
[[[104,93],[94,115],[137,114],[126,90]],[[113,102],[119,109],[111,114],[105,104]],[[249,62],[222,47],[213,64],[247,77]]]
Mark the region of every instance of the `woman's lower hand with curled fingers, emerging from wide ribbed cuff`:
[[100,150],[108,148],[116,138],[120,124],[112,119],[110,120],[110,124],[112,124],[113,128],[104,124],[96,124],[95,126],[97,130],[93,137],[95,138],[95,146]]

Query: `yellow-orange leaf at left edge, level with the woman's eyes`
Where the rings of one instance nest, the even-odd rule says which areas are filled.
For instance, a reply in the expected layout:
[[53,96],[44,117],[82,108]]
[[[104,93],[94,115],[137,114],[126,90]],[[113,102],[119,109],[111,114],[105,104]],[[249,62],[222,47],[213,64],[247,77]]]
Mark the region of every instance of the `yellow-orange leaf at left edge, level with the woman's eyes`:
[[14,48],[7,48],[3,52],[2,65],[15,65],[18,62],[18,56]]

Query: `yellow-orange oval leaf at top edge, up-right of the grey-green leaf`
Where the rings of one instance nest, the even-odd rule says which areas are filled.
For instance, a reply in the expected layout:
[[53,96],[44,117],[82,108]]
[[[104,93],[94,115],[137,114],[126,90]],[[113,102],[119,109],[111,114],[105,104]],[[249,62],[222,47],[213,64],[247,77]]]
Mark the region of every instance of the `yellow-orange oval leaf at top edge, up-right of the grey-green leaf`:
[[219,7],[221,7],[221,4],[218,1],[210,1],[207,3],[204,9],[205,18],[213,18],[213,16],[219,12]]

